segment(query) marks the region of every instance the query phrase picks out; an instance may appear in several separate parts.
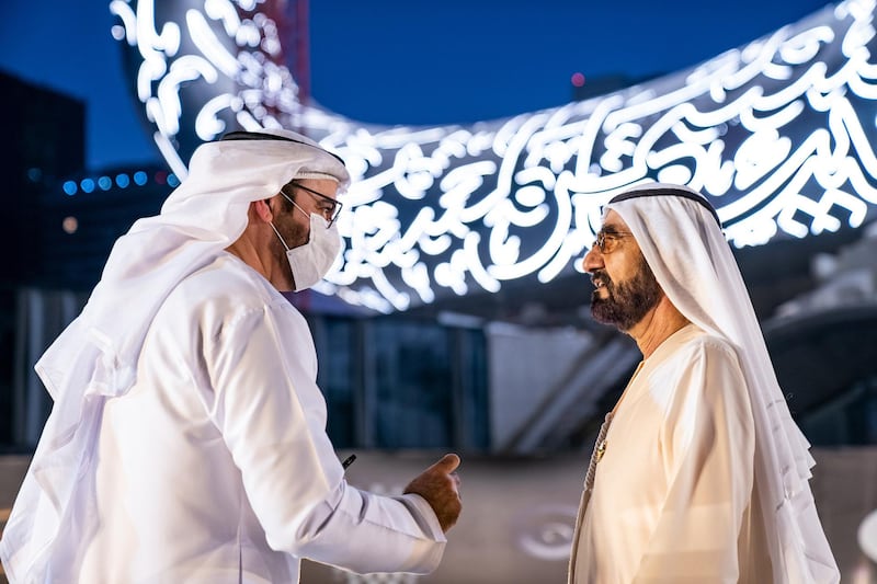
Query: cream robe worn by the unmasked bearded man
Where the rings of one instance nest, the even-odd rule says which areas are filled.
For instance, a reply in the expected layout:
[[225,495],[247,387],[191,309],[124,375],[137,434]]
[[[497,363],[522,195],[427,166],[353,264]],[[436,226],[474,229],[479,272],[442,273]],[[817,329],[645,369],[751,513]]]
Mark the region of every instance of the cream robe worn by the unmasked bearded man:
[[752,409],[737,354],[687,325],[622,397],[579,512],[570,581],[772,581],[753,497]]

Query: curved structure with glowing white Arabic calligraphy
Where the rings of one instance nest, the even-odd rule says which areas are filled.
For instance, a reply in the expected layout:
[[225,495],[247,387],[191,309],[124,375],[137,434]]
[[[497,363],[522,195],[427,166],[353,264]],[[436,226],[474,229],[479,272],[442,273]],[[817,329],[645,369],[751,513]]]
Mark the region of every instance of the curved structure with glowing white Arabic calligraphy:
[[[277,0],[114,0],[133,89],[171,170],[234,127],[338,151],[346,249],[322,291],[390,312],[573,274],[601,207],[684,183],[733,245],[858,227],[877,207],[874,0],[847,0],[691,69],[561,107],[440,127],[301,103]],[[351,209],[350,213],[346,209]]]

